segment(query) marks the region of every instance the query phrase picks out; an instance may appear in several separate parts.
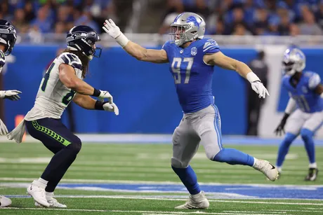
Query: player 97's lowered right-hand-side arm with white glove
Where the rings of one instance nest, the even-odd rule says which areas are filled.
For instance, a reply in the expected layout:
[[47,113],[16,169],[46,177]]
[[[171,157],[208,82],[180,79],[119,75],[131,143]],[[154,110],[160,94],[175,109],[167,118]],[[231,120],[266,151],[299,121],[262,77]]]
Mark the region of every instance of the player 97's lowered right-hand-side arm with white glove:
[[265,98],[266,95],[269,95],[268,90],[265,88],[263,83],[261,83],[258,76],[254,74],[244,62],[232,59],[220,51],[211,55],[204,55],[203,60],[206,64],[237,71],[237,73],[251,83],[251,88],[258,93],[259,97]]

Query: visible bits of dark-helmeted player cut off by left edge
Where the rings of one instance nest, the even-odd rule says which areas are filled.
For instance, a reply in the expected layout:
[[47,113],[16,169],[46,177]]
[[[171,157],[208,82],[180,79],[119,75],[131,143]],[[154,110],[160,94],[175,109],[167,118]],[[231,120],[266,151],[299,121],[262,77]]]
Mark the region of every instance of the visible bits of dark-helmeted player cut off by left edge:
[[[10,55],[15,46],[15,40],[17,39],[17,34],[15,27],[11,25],[7,20],[0,20],[0,73],[6,64],[6,57]],[[19,95],[21,92],[18,90],[1,90],[1,99],[20,99]],[[5,135],[8,133],[7,127],[0,119],[0,135]],[[11,200],[3,195],[0,195],[0,207],[7,207],[11,204]]]

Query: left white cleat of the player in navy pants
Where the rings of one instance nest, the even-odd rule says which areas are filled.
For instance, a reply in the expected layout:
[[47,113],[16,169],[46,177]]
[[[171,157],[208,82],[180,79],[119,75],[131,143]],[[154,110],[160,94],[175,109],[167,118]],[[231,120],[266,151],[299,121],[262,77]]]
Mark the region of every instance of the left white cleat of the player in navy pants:
[[36,202],[44,207],[49,207],[49,203],[46,200],[46,185],[39,181],[32,181],[32,184],[27,188],[27,193],[31,195]]

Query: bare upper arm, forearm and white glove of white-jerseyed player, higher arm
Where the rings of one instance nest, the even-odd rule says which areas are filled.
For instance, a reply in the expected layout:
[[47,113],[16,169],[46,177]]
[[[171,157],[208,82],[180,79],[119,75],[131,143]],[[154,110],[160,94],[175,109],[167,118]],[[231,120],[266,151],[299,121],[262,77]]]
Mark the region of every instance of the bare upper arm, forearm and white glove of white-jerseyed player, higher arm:
[[109,99],[110,104],[113,103],[113,97],[109,92],[103,90],[97,90],[91,85],[82,81],[75,74],[73,67],[68,64],[60,64],[59,67],[59,78],[60,81],[67,87],[81,95],[92,95],[94,97],[99,97],[100,99]]

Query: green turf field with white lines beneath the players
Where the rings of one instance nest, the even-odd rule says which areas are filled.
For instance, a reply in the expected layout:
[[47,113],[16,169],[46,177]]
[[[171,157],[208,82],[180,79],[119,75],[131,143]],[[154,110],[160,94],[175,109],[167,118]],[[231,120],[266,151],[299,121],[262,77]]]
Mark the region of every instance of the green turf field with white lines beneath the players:
[[[251,197],[250,193],[240,196],[223,190],[218,193],[214,190],[212,192],[205,190],[211,203],[208,210],[175,210],[173,207],[185,202],[187,197],[185,190],[172,191],[172,188],[169,188],[166,192],[150,193],[149,191],[151,186],[158,189],[161,185],[179,186],[180,184],[171,169],[170,144],[84,144],[62,183],[91,183],[95,188],[58,188],[55,195],[59,196],[60,202],[67,204],[68,209],[36,209],[32,198],[27,197],[25,187],[32,180],[39,178],[51,159],[51,153],[42,144],[36,143],[11,142],[0,146],[0,193],[13,195],[11,207],[0,209],[0,214],[323,214],[321,200],[282,199],[284,192],[280,192],[280,199],[268,195],[271,198],[268,200]],[[275,163],[277,146],[226,147],[234,147],[256,158]],[[323,148],[317,147],[316,156],[317,163],[321,164]],[[191,165],[202,185],[259,183],[264,186],[299,185],[299,188],[310,190],[316,188],[313,185],[319,186],[323,182],[321,178],[310,183],[303,181],[307,174],[308,161],[302,146],[291,148],[284,163],[282,178],[275,182],[265,180],[263,174],[251,167],[211,162],[204,155],[202,147],[199,148]],[[136,181],[142,183],[148,190],[145,192],[107,190],[95,186],[105,183],[124,183],[128,186]],[[230,190],[230,188],[225,189]],[[316,191],[316,195],[317,192],[322,192],[322,189]],[[290,195],[293,193],[286,194],[286,197],[289,198]]]

